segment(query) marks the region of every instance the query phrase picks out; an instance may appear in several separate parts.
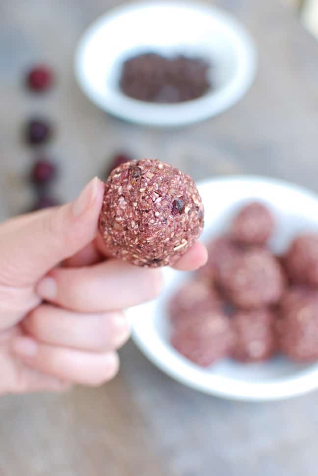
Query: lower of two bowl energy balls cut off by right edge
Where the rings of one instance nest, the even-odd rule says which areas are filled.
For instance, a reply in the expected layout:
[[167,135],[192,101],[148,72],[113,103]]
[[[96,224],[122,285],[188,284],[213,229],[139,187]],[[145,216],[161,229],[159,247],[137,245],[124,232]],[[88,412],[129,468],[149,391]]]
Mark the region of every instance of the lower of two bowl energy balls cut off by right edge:
[[281,302],[276,330],[283,354],[298,362],[318,360],[318,291],[292,287]]

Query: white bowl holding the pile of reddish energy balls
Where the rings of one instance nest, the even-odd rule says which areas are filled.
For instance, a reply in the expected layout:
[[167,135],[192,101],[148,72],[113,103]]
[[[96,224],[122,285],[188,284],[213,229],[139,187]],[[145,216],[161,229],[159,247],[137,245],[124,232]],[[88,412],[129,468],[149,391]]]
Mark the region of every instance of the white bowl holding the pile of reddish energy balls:
[[[299,233],[318,231],[318,196],[296,185],[236,177],[208,180],[198,188],[206,210],[203,240],[223,233],[237,209],[251,199],[267,204],[276,216],[277,229],[271,241],[275,252],[284,251]],[[284,357],[259,364],[226,359],[204,369],[182,357],[169,344],[166,305],[189,273],[164,268],[163,275],[162,295],[127,311],[134,342],[161,370],[202,392],[240,400],[277,400],[318,388],[318,363],[302,365]]]

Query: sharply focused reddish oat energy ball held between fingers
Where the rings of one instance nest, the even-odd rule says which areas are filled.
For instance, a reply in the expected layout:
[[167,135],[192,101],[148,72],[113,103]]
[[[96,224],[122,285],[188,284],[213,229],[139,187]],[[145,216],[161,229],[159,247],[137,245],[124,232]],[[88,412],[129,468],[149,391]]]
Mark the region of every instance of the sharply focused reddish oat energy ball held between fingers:
[[133,160],[106,181],[99,230],[114,257],[157,268],[173,265],[192,246],[203,218],[189,176],[159,160]]

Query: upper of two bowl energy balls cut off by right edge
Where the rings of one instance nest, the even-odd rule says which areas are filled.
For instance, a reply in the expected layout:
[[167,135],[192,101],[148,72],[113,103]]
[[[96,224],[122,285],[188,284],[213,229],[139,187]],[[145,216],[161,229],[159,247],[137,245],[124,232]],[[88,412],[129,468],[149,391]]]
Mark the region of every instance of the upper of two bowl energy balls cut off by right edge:
[[295,238],[286,254],[285,267],[292,282],[318,286],[318,235]]

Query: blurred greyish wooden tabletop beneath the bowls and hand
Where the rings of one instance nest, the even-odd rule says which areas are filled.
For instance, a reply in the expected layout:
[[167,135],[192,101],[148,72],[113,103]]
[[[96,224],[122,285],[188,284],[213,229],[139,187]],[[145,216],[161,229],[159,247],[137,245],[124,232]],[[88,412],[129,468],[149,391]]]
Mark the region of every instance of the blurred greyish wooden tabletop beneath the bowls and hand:
[[[107,115],[76,82],[82,33],[121,3],[1,2],[1,219],[72,199],[94,175],[105,178],[118,154],[159,158],[195,180],[257,174],[318,192],[316,0],[206,1],[253,38],[256,79],[230,109],[173,129]],[[43,94],[26,85],[38,64],[53,74]],[[38,118],[52,134],[34,148],[26,134]],[[56,170],[41,192],[30,179],[38,161]],[[226,401],[172,381],[132,342],[121,361],[119,375],[99,389],[1,397],[0,475],[317,475],[317,393],[286,402]]]

